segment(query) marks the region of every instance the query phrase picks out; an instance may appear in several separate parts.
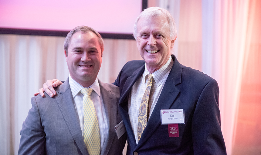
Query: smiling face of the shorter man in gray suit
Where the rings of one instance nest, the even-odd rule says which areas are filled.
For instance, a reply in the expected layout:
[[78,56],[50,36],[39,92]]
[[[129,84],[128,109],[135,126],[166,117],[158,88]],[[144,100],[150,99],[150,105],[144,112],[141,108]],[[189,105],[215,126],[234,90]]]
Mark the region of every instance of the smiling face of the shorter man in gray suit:
[[91,31],[74,33],[68,46],[68,55],[66,51],[64,54],[73,80],[83,87],[93,84],[102,61],[98,36]]

